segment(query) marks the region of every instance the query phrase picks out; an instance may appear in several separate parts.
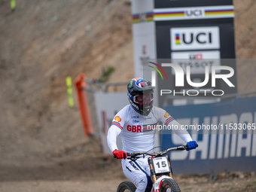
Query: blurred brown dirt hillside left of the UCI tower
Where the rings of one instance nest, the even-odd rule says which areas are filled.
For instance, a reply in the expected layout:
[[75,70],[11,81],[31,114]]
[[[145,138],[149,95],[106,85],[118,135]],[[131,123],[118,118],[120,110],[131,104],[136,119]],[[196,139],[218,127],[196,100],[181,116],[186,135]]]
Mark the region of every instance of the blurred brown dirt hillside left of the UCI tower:
[[[39,159],[87,141],[78,102],[69,108],[66,75],[133,78],[130,1],[0,1],[2,163]],[[74,87],[75,88],[75,87]],[[75,92],[75,89],[74,89]],[[49,155],[50,155],[49,154]]]

